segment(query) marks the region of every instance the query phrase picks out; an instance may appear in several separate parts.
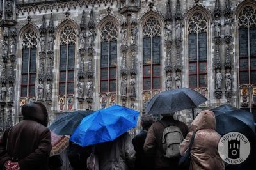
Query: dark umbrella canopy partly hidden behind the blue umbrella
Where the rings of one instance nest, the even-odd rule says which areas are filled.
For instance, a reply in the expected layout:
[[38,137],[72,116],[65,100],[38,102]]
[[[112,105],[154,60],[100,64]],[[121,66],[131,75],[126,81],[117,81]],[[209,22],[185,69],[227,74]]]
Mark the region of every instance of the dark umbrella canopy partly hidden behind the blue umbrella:
[[92,112],[94,111],[78,110],[74,112],[65,112],[58,116],[48,128],[57,135],[71,135],[81,120],[83,120],[85,116],[88,116]]

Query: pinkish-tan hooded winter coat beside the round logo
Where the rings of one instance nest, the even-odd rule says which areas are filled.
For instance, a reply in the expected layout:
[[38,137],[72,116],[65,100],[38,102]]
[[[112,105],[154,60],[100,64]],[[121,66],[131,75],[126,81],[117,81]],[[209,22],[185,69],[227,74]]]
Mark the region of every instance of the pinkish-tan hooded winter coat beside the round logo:
[[190,169],[222,170],[224,164],[218,153],[218,142],[221,136],[214,130],[216,120],[212,111],[202,111],[191,123],[186,139],[180,144],[180,154],[184,155],[189,147],[193,132],[196,130],[194,143],[191,147]]

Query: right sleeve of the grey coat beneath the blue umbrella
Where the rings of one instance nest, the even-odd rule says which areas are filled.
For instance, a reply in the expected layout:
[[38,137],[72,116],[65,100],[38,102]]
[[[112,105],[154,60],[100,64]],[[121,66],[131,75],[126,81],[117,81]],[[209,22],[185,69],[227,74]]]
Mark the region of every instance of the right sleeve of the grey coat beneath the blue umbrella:
[[129,166],[129,169],[134,169],[135,150],[132,144],[131,136],[128,133],[125,134],[125,160]]

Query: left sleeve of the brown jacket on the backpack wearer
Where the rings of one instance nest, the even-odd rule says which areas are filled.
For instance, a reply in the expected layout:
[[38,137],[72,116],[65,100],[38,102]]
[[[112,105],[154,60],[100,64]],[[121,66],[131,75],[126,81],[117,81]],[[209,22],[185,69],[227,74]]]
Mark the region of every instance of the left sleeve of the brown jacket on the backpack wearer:
[[147,137],[144,143],[144,153],[146,155],[154,155],[156,152],[156,134],[154,132],[154,125],[148,129]]

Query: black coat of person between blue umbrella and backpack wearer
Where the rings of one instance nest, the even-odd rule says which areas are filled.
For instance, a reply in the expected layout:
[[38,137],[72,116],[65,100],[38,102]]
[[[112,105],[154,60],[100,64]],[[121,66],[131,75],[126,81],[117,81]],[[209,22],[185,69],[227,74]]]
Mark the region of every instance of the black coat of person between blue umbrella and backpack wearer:
[[[149,128],[149,127],[148,127]],[[132,144],[136,151],[135,169],[154,169],[154,155],[145,155],[143,146],[147,137],[148,128],[143,128],[141,132],[132,139]]]

